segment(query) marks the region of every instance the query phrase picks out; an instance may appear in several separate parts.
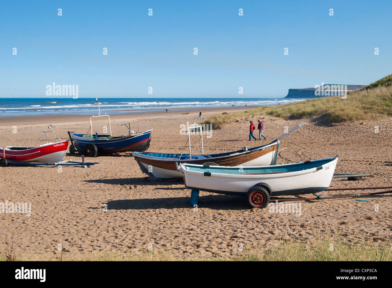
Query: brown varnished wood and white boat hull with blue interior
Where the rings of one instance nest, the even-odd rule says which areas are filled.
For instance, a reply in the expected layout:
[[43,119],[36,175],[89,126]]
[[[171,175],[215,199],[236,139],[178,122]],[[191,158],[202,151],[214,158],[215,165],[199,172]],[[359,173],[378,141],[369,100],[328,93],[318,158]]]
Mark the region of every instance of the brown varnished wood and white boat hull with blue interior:
[[181,172],[177,171],[176,163],[200,164],[214,162],[220,166],[265,166],[275,165],[278,157],[279,141],[268,145],[210,155],[163,154],[163,153],[132,153],[140,169],[145,174],[158,180],[181,179]]

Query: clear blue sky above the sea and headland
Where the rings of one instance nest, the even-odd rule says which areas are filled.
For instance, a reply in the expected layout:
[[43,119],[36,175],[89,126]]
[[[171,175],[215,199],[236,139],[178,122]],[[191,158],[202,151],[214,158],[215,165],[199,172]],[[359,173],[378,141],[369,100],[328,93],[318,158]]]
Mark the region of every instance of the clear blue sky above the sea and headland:
[[81,98],[283,97],[289,88],[365,85],[392,73],[391,1],[1,6],[0,97],[45,97],[53,82],[79,85]]

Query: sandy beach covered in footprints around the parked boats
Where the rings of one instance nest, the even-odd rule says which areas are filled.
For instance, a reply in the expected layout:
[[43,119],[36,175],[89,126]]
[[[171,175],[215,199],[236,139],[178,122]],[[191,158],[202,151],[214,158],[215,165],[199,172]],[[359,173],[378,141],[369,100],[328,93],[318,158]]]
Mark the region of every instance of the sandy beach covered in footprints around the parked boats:
[[[249,109],[249,107],[247,107]],[[203,109],[203,118],[245,107]],[[189,114],[181,114],[189,113]],[[187,136],[180,125],[198,120],[198,111],[132,113],[111,117],[113,135],[126,134],[120,124],[133,130],[152,130],[149,152],[178,153]],[[267,140],[248,141],[249,120],[263,119]],[[333,126],[310,119],[286,121],[255,115],[214,130],[204,139],[206,154],[255,147],[269,143],[300,122],[301,129],[281,140],[278,164],[339,155],[336,173],[371,173],[362,181],[334,178],[330,188],[392,186],[392,119],[352,122]],[[34,116],[0,118],[0,147],[40,144],[41,132],[53,125],[67,139],[67,131],[85,133],[89,116]],[[96,127],[103,127],[99,121]],[[16,127],[16,133],[15,132]],[[375,127],[378,127],[378,131]],[[378,133],[375,133],[378,132]],[[194,136],[197,137],[197,136]],[[197,138],[195,138],[197,139]],[[65,159],[79,161],[78,157]],[[239,246],[265,247],[282,239],[307,243],[316,234],[350,233],[368,241],[390,241],[391,194],[355,199],[301,201],[301,214],[272,214],[268,208],[249,209],[242,197],[200,192],[199,206],[189,205],[190,190],[182,181],[145,178],[130,155],[98,156],[99,162],[81,167],[5,167],[0,202],[29,202],[31,216],[0,214],[0,252],[9,249],[11,236],[16,255],[54,259],[62,243],[63,259],[119,251],[142,254],[168,252],[184,259],[243,253]],[[379,191],[379,190],[377,190]],[[376,192],[366,190],[366,192]],[[365,190],[349,191],[365,193]],[[348,194],[323,192],[323,196]],[[303,196],[299,196],[303,197]],[[107,205],[107,210],[104,209]],[[332,240],[331,240],[332,241]]]

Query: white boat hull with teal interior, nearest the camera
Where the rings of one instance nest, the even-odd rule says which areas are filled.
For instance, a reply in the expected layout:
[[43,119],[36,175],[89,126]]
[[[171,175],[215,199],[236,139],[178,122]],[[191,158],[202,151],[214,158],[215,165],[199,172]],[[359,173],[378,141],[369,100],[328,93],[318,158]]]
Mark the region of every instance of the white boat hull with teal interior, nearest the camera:
[[[181,164],[185,187],[219,194],[245,196],[263,186],[270,196],[318,193],[331,183],[338,158],[266,167],[218,167]],[[242,171],[241,171],[242,169]],[[252,172],[263,173],[252,173]]]

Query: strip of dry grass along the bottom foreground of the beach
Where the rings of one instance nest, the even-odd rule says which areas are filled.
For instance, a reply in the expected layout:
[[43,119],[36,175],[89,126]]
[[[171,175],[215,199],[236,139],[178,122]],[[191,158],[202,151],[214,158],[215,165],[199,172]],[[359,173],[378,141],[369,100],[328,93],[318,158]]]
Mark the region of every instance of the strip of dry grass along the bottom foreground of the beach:
[[[319,235],[308,241],[288,237],[278,237],[276,241],[263,247],[245,245],[243,251],[232,255],[213,255],[203,257],[198,255],[181,255],[163,250],[144,251],[142,254],[132,254],[119,251],[93,252],[88,255],[65,255],[65,261],[391,261],[392,242],[373,241],[366,236],[352,234],[329,233]],[[234,246],[236,244],[233,244]],[[50,260],[59,261],[59,256],[49,255],[16,255],[16,261]],[[4,253],[0,261],[6,261]]]

